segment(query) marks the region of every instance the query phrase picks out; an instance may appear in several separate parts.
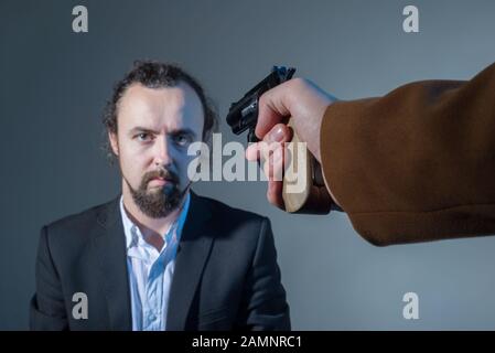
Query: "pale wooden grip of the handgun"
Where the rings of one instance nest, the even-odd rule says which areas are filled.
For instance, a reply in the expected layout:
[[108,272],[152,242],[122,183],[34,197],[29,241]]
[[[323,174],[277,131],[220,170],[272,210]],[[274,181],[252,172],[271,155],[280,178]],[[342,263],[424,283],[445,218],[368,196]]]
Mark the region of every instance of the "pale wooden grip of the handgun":
[[[292,119],[289,120],[288,126],[292,127]],[[297,213],[302,211],[309,201],[318,162],[305,145],[301,143],[295,130],[292,130],[292,143],[288,146],[289,163],[283,174],[282,197],[286,211]]]

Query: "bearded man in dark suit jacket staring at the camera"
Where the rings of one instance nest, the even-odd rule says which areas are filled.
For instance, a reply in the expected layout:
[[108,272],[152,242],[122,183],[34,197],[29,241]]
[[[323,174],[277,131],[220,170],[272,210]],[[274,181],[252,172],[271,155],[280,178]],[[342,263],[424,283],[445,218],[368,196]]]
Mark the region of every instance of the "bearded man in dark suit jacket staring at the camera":
[[34,330],[289,330],[269,220],[195,195],[215,115],[176,66],[137,63],[104,118],[122,195],[44,226]]

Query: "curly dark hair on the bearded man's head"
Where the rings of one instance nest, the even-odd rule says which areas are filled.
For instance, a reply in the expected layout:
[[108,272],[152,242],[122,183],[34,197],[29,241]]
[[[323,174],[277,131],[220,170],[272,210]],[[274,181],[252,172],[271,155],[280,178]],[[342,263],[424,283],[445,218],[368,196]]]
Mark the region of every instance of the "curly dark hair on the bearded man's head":
[[[107,132],[117,133],[118,129],[118,103],[126,93],[127,88],[134,83],[139,83],[148,88],[174,87],[180,82],[190,85],[200,97],[204,111],[203,141],[208,142],[212,132],[217,128],[217,114],[213,103],[206,97],[203,87],[190,74],[174,64],[166,64],[155,61],[136,61],[132,69],[114,86],[111,99],[107,101],[103,122],[105,125],[105,135]],[[116,156],[111,150],[108,138],[105,139],[104,150],[107,153],[110,163],[114,163]]]

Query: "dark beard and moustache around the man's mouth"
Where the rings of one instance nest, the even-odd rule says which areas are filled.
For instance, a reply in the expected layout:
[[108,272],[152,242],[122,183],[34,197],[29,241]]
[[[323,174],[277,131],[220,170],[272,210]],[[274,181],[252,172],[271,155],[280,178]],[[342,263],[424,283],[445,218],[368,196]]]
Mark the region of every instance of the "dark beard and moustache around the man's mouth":
[[[163,186],[153,188],[151,192],[148,191],[148,183],[158,176],[165,179],[168,183]],[[187,188],[183,191],[179,189],[179,178],[166,169],[146,173],[138,190],[132,189],[127,180],[126,183],[136,205],[151,218],[163,218],[171,214],[180,206],[187,191]]]

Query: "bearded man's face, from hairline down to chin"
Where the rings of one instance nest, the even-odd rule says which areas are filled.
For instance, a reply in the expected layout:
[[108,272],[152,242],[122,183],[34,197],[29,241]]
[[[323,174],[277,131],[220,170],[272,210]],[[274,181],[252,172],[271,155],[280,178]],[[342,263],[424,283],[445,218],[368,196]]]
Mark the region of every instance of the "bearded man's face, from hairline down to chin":
[[118,104],[117,136],[109,133],[119,158],[123,192],[146,215],[159,218],[175,210],[189,185],[187,156],[201,141],[204,113],[196,93],[180,82],[174,87],[133,84]]

